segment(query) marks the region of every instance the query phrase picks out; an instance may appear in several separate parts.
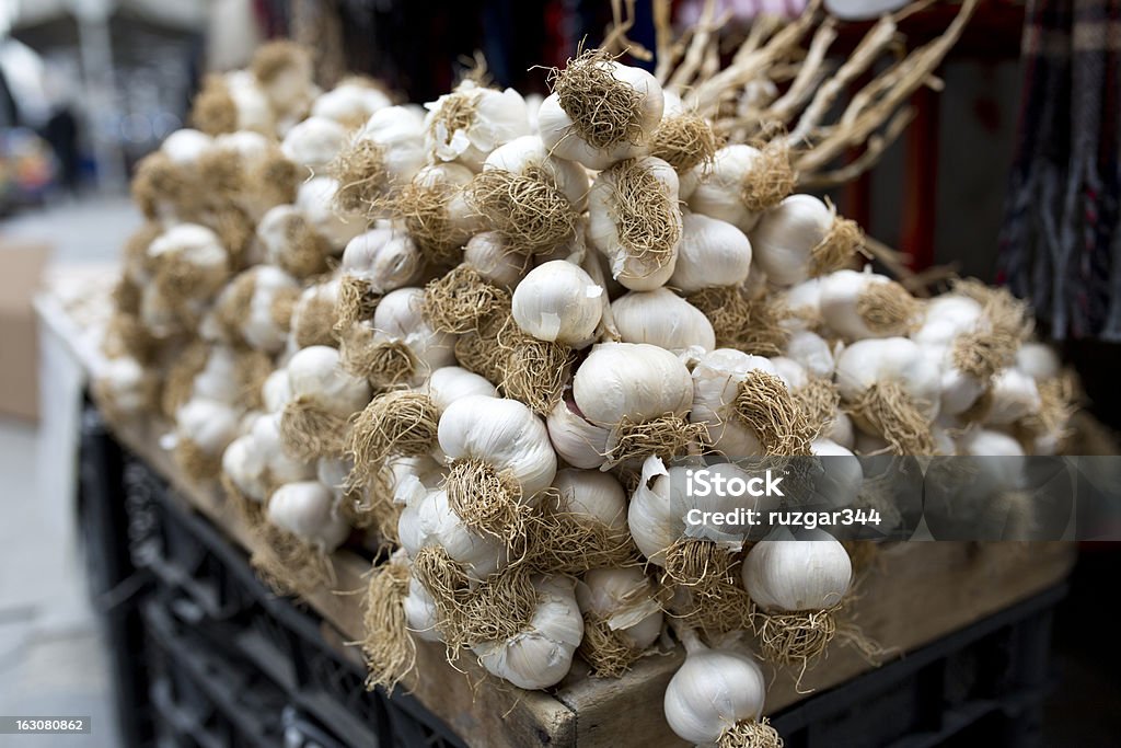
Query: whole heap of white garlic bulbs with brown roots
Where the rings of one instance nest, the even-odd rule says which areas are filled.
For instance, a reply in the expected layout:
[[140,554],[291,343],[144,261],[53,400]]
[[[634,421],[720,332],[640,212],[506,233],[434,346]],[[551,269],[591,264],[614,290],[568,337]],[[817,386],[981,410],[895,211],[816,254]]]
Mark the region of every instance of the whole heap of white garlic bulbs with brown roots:
[[758,667],[720,641],[804,668],[853,566],[827,535],[691,533],[680,459],[1060,447],[1065,378],[1021,305],[855,269],[860,230],[789,194],[785,151],[716,148],[645,71],[590,52],[539,108],[474,80],[421,108],[306,63],[270,45],[210,80],[201,129],[139,167],[96,393],[169,421],[278,588],[393,550],[371,684],[419,641],[526,689],[577,659],[614,677],[671,617],[671,727],[769,739]]

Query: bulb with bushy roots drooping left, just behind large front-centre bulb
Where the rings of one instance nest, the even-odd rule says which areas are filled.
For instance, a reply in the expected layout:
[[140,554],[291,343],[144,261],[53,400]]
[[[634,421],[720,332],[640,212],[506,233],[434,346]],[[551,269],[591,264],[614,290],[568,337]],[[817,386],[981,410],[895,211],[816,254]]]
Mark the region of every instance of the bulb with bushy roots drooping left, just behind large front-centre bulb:
[[494,386],[460,367],[442,367],[417,390],[378,395],[354,419],[349,453],[354,458],[351,482],[369,483],[395,456],[419,458],[437,449],[436,428],[444,408],[457,399],[497,397]]

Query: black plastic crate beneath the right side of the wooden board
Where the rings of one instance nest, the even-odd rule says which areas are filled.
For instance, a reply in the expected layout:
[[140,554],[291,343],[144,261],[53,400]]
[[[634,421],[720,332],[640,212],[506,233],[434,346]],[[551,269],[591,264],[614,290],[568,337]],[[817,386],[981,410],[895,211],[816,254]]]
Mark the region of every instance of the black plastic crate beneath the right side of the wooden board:
[[779,712],[787,748],[1041,745],[1057,587]]

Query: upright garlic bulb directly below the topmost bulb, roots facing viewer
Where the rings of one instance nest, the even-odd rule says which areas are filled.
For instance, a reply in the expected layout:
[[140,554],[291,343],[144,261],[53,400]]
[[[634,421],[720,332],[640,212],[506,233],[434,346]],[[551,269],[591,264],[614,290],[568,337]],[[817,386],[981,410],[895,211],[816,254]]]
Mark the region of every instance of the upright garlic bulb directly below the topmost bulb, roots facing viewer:
[[[668,205],[670,220],[676,223],[677,241],[671,247],[658,247],[655,257],[647,257],[645,248],[629,247],[620,234],[619,216],[615,211],[620,179],[629,174],[643,170],[660,185],[663,198]],[[631,290],[654,290],[674,275],[680,246],[682,212],[677,205],[677,172],[666,161],[652,156],[634,159],[633,166],[624,169],[601,172],[592,183],[587,195],[587,239],[611,260],[611,277]]]

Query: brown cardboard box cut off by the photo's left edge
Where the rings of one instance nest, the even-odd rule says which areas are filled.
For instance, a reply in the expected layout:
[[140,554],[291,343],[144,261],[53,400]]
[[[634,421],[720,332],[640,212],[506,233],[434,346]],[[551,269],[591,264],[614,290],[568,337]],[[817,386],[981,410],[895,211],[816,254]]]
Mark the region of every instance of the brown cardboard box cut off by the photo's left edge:
[[38,419],[39,347],[31,299],[49,257],[47,244],[0,237],[0,416]]

